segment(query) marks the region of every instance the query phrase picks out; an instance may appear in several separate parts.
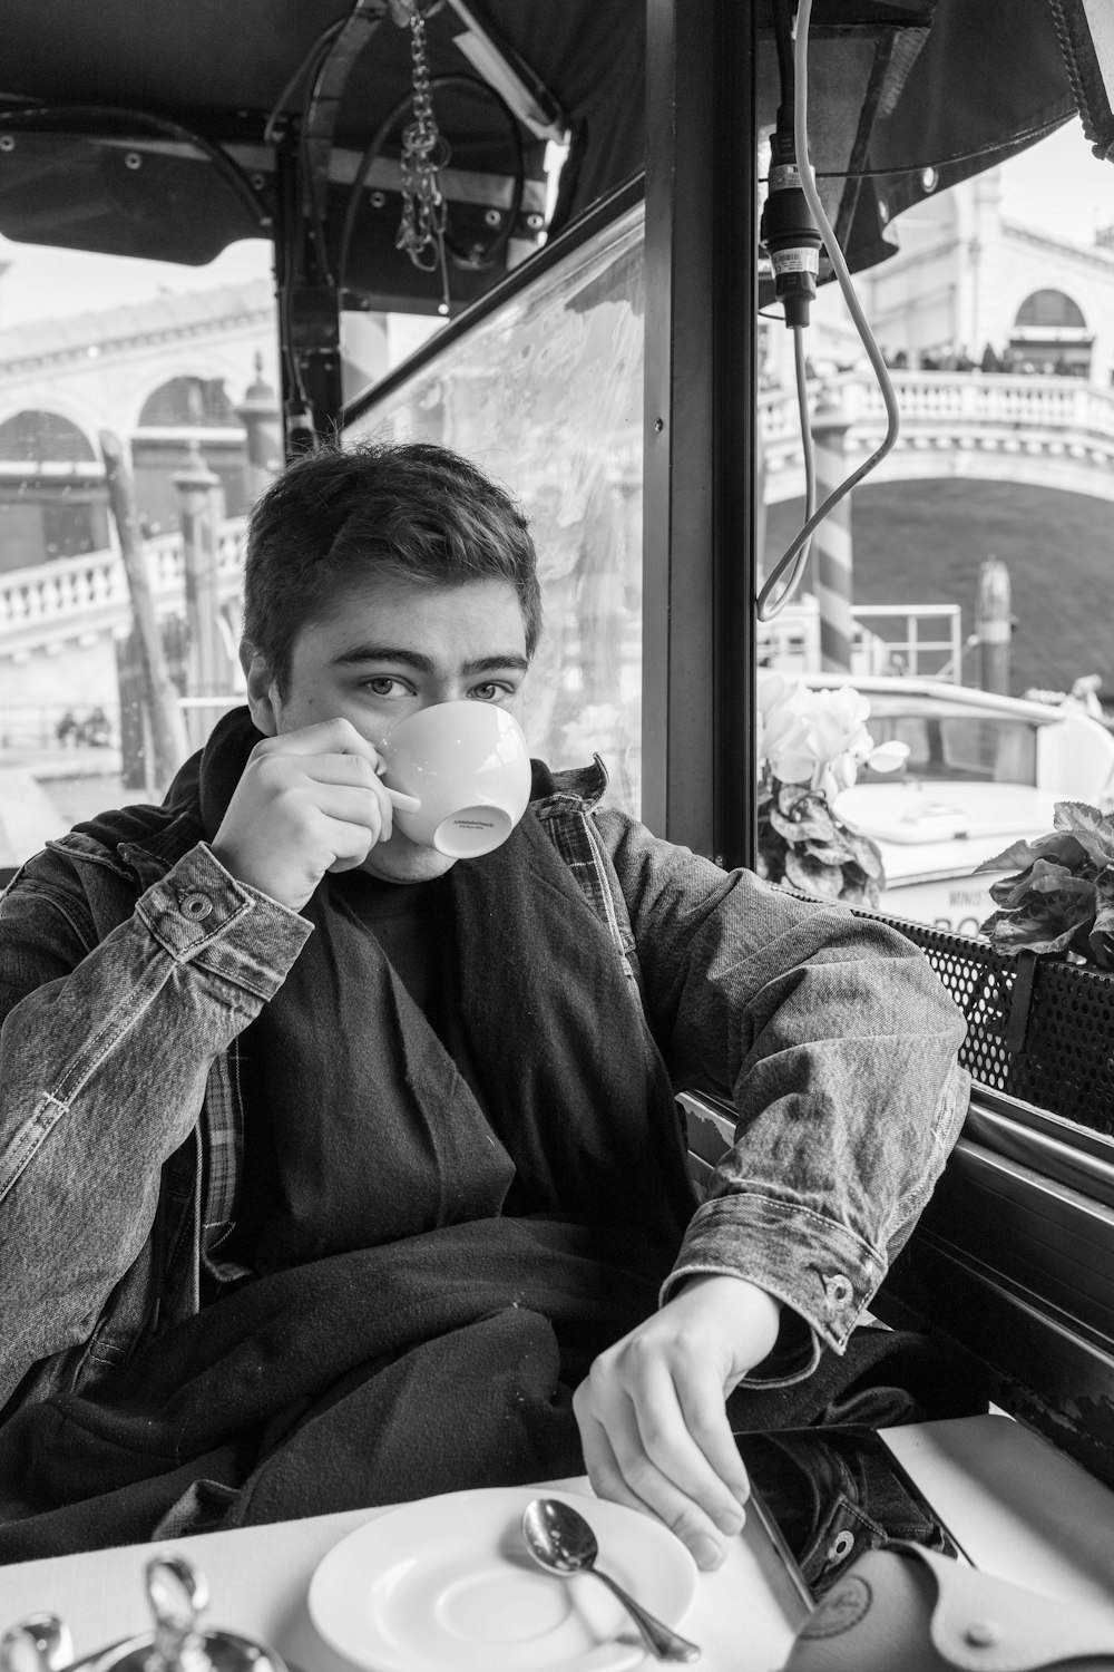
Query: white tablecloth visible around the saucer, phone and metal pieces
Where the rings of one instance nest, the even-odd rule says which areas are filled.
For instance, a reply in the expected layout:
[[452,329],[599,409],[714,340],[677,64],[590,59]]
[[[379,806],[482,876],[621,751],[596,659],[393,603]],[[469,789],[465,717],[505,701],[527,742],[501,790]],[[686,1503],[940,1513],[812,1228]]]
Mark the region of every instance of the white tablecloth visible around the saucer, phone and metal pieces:
[[[1114,1617],[1114,1493],[1077,1463],[1005,1416],[914,1425],[885,1438],[979,1568]],[[591,1495],[586,1480],[548,1485]],[[274,1645],[301,1672],[352,1672],[317,1637],[306,1590],[326,1552],[382,1513],[351,1510],[3,1567],[0,1629],[28,1613],[60,1613],[78,1655],[145,1632],[144,1562],[155,1548],[174,1548],[209,1580],[209,1625]],[[653,1608],[653,1597],[645,1602]],[[782,1672],[803,1612],[752,1515],[725,1565],[700,1577],[683,1630],[703,1647],[701,1672]]]

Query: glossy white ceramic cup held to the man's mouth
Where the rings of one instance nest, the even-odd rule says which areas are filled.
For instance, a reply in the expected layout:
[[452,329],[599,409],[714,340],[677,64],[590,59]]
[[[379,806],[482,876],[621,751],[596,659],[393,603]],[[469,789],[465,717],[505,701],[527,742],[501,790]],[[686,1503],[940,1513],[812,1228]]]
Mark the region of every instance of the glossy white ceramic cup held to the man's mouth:
[[529,803],[529,749],[513,714],[489,702],[438,702],[376,744],[387,789],[418,798],[394,828],[453,859],[491,853]]

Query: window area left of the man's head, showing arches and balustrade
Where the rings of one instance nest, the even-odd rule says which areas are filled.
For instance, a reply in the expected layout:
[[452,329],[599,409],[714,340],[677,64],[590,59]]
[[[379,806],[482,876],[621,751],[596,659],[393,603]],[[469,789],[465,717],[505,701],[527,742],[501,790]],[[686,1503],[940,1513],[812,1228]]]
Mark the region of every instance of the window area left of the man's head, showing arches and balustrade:
[[[180,764],[149,749],[102,431],[134,485],[182,756],[242,701],[241,533],[281,445],[269,244],[200,271],[0,244],[2,879],[73,823],[160,799]],[[187,492],[212,567],[194,615]]]

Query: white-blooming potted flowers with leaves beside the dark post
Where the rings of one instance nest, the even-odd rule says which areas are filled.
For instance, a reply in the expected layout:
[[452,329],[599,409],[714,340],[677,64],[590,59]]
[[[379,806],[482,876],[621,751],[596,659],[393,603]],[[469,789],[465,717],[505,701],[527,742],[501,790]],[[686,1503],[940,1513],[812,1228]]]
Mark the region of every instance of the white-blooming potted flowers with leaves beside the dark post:
[[882,854],[835,814],[858,767],[895,771],[909,747],[875,747],[867,731],[870,704],[840,686],[810,691],[780,674],[758,675],[758,863],[760,876],[808,895],[879,905],[885,888]]

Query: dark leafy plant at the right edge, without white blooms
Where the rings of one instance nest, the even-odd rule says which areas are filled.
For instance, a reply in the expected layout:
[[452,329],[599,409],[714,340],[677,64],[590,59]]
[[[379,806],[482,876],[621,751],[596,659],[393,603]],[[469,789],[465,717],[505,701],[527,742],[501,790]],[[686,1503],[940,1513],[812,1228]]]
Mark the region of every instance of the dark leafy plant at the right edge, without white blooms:
[[975,871],[1015,869],[990,884],[997,911],[980,933],[997,951],[1059,955],[1114,970],[1114,814],[1086,801],[1057,801],[1056,826],[1015,841]]

